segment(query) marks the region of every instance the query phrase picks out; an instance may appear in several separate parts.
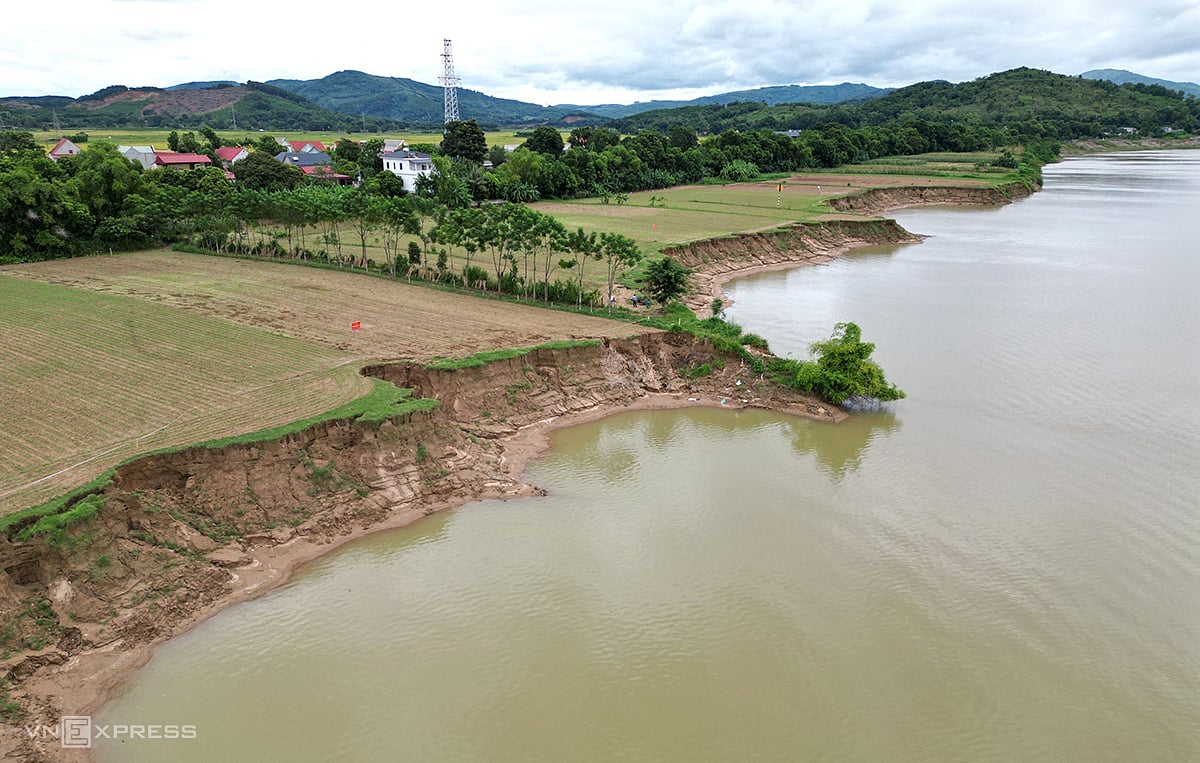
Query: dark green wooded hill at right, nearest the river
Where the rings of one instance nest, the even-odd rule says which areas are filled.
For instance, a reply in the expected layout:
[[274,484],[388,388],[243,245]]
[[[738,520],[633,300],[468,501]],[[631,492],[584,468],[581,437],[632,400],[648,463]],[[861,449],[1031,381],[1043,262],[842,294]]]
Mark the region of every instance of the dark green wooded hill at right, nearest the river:
[[1134,130],[1200,132],[1200,100],[1159,85],[1124,84],[1016,68],[972,82],[926,82],[858,104],[734,103],[647,112],[612,121],[625,133],[670,131],[683,125],[701,132],[726,130],[810,130],[924,120],[1001,127],[1014,136],[1094,138]]

